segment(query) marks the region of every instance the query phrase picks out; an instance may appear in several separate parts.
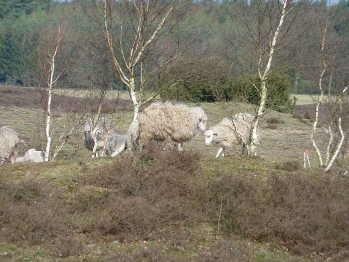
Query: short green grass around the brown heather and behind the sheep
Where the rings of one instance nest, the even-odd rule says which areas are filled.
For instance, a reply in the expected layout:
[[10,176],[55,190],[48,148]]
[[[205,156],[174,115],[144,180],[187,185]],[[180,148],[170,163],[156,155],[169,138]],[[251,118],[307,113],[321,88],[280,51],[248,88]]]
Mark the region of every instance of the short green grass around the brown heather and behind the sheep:
[[[68,90],[67,92],[70,95],[80,97],[86,94],[84,91],[73,92]],[[116,93],[112,92],[109,98],[115,95]],[[298,98],[298,104],[309,104],[312,102],[311,98],[306,95],[296,96]],[[127,98],[127,94],[125,92],[122,93],[122,97]],[[226,116],[222,104],[201,103],[198,105],[202,106],[207,113],[209,126],[218,123]],[[250,105],[239,105],[239,108],[243,108],[244,111],[254,111],[254,107]],[[55,115],[56,122],[55,132],[53,133],[53,146],[63,128],[64,117],[65,113]],[[132,119],[132,112],[119,111],[108,114],[108,117],[115,121],[121,132],[126,132]],[[277,118],[283,121],[271,127],[267,121],[269,118]],[[262,118],[260,124],[261,142],[258,146],[258,157],[253,160],[239,155],[240,146],[236,146],[232,152],[229,152],[227,157],[216,159],[215,153],[218,147],[215,145],[205,146],[202,133],[199,133],[191,141],[185,143],[184,151],[199,154],[200,157],[197,168],[199,170],[199,181],[207,183],[207,185],[215,183],[220,177],[225,176],[251,176],[263,179],[263,181],[270,179],[275,174],[288,176],[290,174],[288,172],[292,173],[293,171],[297,171],[298,167],[302,164],[303,150],[305,148],[311,148],[310,121],[311,120],[307,119],[293,118],[289,114],[272,110],[268,111]],[[43,116],[39,109],[21,108],[17,106],[2,107],[0,105],[0,125],[8,125],[15,128],[24,138],[29,148],[39,150],[44,147]],[[92,174],[94,174],[95,170],[117,163],[118,157],[116,159],[91,159],[90,152],[83,146],[82,131],[83,126],[81,125],[70,137],[66,147],[61,151],[60,155],[58,155],[57,161],[55,162],[37,164],[18,163],[0,166],[0,189],[1,183],[3,185],[11,185],[14,188],[16,188],[17,185],[24,185],[25,190],[27,190],[27,186],[25,185],[31,185],[30,183],[45,185],[52,190],[53,197],[55,194],[58,194],[57,196],[59,197],[57,197],[57,201],[61,201],[63,204],[65,203],[64,205],[62,204],[62,207],[73,205],[78,197],[86,197],[86,205],[88,206],[88,203],[92,205],[96,199],[105,196],[109,189],[107,190],[103,186],[98,186],[98,184],[97,186],[95,184],[86,185],[87,182],[83,181],[83,177],[93,177]],[[320,138],[319,141],[325,141],[325,135],[320,130],[316,135]],[[325,144],[320,144],[320,148],[324,150]],[[21,145],[18,149],[18,155],[23,155],[26,150],[27,148]],[[126,153],[122,159],[126,161],[128,156],[133,157],[133,153]],[[310,159],[312,166],[316,167],[318,161],[315,155],[311,155]],[[286,171],[282,168],[280,169],[285,163],[296,163],[295,170]],[[148,167],[142,170],[147,171]],[[161,173],[162,171],[159,169],[156,172]],[[320,171],[316,168],[313,169],[314,174],[317,172]],[[160,188],[161,186],[159,186],[159,189]],[[22,187],[19,187],[19,189],[23,190]],[[19,199],[31,199],[32,195],[25,195],[25,190],[22,195],[19,190],[18,194],[21,196]],[[30,192],[36,192],[35,190],[30,190]],[[111,192],[113,193],[114,191],[111,190]],[[294,193],[295,192],[290,192],[289,194],[291,196]],[[44,194],[44,196],[46,195]],[[50,194],[47,194],[47,196],[50,196]],[[346,198],[345,195],[344,198]],[[37,199],[35,201],[40,202],[41,200]],[[35,206],[34,202],[20,203],[20,205],[29,205],[29,207],[30,205]],[[221,210],[219,211],[219,207],[217,210],[217,214],[213,217],[220,218]],[[1,210],[0,207],[0,222],[2,216],[1,212],[3,212],[3,210]],[[70,213],[67,214],[64,216],[70,216]],[[137,214],[134,214],[134,216],[138,216]],[[47,215],[52,216],[50,213]],[[30,214],[29,211],[28,216],[34,215]],[[86,214],[86,216],[77,217],[76,224],[79,224],[78,219],[89,220],[89,216],[92,215]],[[59,214],[56,219],[57,221],[65,223],[64,218],[60,218]],[[82,224],[85,223],[83,220],[81,221]],[[160,220],[161,217],[159,217],[159,221]],[[2,221],[2,223],[4,222]],[[180,242],[185,243],[185,245],[174,244],[178,241],[178,239],[176,239],[178,236],[175,234],[175,228],[179,226],[173,226],[173,235],[171,235],[172,231],[164,229],[163,237],[156,235],[149,239],[131,238],[131,240],[127,241],[120,240],[115,235],[97,237],[93,235],[93,231],[91,231],[92,233],[88,233],[88,229],[81,232],[67,232],[67,240],[64,239],[63,242],[61,242],[63,238],[61,235],[52,236],[48,238],[49,241],[43,237],[43,241],[38,240],[34,244],[30,240],[24,238],[24,236],[22,241],[18,239],[13,239],[13,241],[11,241],[10,238],[2,238],[3,241],[0,242],[0,261],[177,261],[175,258],[180,258],[182,261],[216,261],[217,258],[221,258],[219,261],[232,261],[232,258],[234,258],[235,261],[256,262],[322,261],[322,255],[319,255],[320,252],[314,255],[303,252],[302,255],[299,255],[300,253],[293,252],[287,248],[288,243],[283,243],[279,240],[272,241],[270,238],[265,238],[265,241],[253,241],[248,237],[245,238],[243,234],[234,236],[227,235],[218,231],[217,225],[211,224],[209,221],[205,223],[200,222],[200,224],[195,225],[193,228],[185,229],[189,233],[185,235],[185,241]],[[35,225],[28,225],[28,227],[33,227],[33,231],[36,230]],[[40,230],[40,227],[38,227],[37,230]],[[3,229],[3,231],[5,231],[5,229]],[[236,232],[238,232],[238,230],[236,230]],[[73,243],[71,243],[71,241],[73,241]],[[77,244],[75,242],[79,244],[78,247],[81,246],[83,248],[76,248]],[[58,248],[55,248],[57,245]],[[70,245],[73,246],[74,249],[76,248],[76,251],[73,249],[70,250]],[[220,245],[226,246],[228,249],[223,252],[219,250]],[[64,253],[65,249],[67,251]],[[233,255],[230,253],[230,255],[225,254],[227,250],[232,252]],[[152,252],[157,255],[155,256]],[[129,255],[126,257],[120,257],[119,255],[119,257],[111,257],[113,254],[119,253]],[[159,254],[161,254],[161,256]],[[329,259],[329,261],[337,261],[333,260],[331,256],[327,256],[326,259]]]

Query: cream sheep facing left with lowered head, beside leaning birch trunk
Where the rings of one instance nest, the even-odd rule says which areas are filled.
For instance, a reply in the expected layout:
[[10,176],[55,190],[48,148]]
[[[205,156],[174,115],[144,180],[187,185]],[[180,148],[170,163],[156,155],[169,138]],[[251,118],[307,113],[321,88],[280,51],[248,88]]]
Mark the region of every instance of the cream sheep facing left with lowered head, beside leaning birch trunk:
[[[242,144],[242,154],[245,151],[246,144],[249,142],[251,125],[254,117],[249,113],[239,113],[233,116],[231,120],[223,118],[219,124],[211,127],[205,132],[205,144],[209,145],[212,142],[219,144],[216,157],[222,153],[224,156],[225,150],[232,148],[233,144]],[[257,139],[259,141],[259,130],[257,131]]]

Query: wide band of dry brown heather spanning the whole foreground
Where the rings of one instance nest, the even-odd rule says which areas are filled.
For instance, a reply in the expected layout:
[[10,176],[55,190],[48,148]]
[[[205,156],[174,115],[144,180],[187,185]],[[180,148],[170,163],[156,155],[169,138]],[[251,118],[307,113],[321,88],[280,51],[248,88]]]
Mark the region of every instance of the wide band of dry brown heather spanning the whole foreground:
[[[208,224],[224,238],[272,242],[303,256],[348,258],[348,178],[284,169],[267,176],[248,169],[217,171],[208,179],[198,154],[159,151],[154,145],[93,170],[83,168],[68,188],[35,174],[21,182],[1,181],[0,240],[48,243],[50,253],[59,257],[78,256],[91,241],[163,240],[180,249],[201,241],[197,229]],[[194,260],[251,259],[247,248],[233,250],[229,245],[223,241],[210,246]],[[154,247],[105,258],[116,260],[192,259],[177,259]]]

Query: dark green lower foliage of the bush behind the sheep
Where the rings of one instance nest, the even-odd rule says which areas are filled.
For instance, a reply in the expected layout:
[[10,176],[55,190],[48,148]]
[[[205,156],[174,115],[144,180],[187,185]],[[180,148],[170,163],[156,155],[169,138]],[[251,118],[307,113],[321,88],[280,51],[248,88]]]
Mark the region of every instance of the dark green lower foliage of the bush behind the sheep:
[[[163,85],[168,84],[167,79],[174,79],[176,72],[168,74],[163,80]],[[184,81],[170,90],[162,93],[163,100],[179,100],[183,102],[218,102],[218,101],[244,101],[258,104],[260,100],[256,89],[260,86],[257,75],[243,75],[232,77],[226,75],[205,75],[196,81]],[[290,79],[288,74],[274,73],[268,79],[267,107],[279,112],[291,113],[296,104],[296,98],[291,99],[289,94]]]

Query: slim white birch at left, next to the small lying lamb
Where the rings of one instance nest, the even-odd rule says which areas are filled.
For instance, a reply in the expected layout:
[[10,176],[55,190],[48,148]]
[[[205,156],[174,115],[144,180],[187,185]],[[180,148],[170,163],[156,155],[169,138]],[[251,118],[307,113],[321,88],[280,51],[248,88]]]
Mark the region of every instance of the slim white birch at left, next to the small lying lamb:
[[[71,110],[64,117],[63,129],[56,140],[55,150],[51,158],[52,136],[55,131],[56,118],[53,117],[54,110],[59,111],[66,96],[62,89],[59,90],[59,81],[67,73],[68,69],[78,57],[77,46],[72,46],[74,42],[69,35],[66,39],[68,23],[60,19],[58,22],[48,23],[40,30],[36,52],[33,53],[33,63],[35,71],[33,74],[38,79],[37,91],[44,111],[45,129],[45,157],[44,161],[54,160],[57,154],[64,147],[76,127],[82,122],[84,113],[80,114],[83,105],[72,105]],[[72,49],[73,52],[72,52]],[[55,101],[53,101],[55,100]],[[77,110],[79,108],[79,110]],[[77,112],[80,111],[80,112]]]

